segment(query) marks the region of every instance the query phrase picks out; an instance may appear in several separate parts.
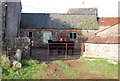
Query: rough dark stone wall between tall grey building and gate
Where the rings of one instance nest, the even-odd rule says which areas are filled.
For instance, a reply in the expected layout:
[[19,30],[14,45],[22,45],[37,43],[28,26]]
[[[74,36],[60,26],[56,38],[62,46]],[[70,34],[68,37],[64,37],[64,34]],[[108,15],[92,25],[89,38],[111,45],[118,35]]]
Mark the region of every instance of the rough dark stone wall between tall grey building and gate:
[[22,57],[29,58],[30,57],[30,39],[27,37],[20,38],[10,38],[7,39],[6,43],[7,51],[10,58],[16,53],[17,49],[22,50]]

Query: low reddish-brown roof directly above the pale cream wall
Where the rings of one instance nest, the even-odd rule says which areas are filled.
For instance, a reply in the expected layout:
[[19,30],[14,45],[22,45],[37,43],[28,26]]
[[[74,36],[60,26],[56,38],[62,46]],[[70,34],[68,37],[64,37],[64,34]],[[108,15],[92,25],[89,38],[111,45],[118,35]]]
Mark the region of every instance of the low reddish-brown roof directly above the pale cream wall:
[[87,43],[98,43],[98,44],[120,44],[119,36],[95,36],[88,39]]

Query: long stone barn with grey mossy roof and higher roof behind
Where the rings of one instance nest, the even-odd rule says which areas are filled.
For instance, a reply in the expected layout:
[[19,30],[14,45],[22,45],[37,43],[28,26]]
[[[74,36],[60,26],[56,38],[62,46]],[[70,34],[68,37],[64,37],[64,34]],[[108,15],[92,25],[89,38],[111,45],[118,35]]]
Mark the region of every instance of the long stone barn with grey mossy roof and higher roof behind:
[[67,14],[22,13],[21,28],[20,35],[30,37],[34,46],[47,44],[50,38],[58,41],[62,35],[69,41],[81,43],[90,35],[85,37],[81,30],[98,29],[97,9],[72,8]]

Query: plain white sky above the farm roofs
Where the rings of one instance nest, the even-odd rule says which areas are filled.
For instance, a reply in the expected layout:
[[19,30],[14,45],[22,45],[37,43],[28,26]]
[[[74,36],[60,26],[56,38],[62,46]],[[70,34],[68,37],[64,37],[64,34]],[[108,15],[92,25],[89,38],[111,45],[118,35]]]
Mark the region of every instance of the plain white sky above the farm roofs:
[[69,8],[97,8],[98,17],[118,17],[120,0],[21,0],[22,13],[67,13]]

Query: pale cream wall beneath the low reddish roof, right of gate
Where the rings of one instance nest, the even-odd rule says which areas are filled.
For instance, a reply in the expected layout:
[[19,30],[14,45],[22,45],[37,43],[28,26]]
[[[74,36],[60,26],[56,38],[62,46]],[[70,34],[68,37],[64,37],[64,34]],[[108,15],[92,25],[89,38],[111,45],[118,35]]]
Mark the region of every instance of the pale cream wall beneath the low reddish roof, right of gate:
[[83,56],[86,57],[102,57],[108,59],[118,59],[118,48],[120,44],[92,44],[85,43],[85,52]]

